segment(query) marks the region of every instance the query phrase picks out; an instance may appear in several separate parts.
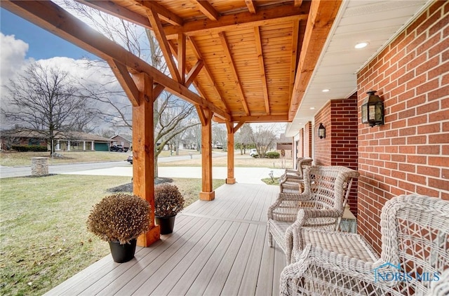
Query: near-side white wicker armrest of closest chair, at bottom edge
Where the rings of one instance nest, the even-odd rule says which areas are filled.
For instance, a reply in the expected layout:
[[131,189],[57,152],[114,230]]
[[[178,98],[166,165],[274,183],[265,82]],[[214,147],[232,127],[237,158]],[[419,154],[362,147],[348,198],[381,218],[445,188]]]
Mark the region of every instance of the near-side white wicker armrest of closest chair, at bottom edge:
[[382,260],[358,260],[311,244],[296,259],[281,273],[280,295],[400,295],[392,288],[394,281],[375,281],[375,269],[396,271],[382,267]]

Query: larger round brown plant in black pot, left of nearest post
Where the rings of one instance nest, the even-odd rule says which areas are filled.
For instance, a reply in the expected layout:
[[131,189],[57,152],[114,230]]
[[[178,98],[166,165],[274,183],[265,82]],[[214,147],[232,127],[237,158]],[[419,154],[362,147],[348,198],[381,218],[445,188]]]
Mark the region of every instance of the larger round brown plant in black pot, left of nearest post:
[[115,262],[134,257],[137,237],[149,230],[149,203],[131,194],[113,194],[93,206],[87,228],[109,243]]

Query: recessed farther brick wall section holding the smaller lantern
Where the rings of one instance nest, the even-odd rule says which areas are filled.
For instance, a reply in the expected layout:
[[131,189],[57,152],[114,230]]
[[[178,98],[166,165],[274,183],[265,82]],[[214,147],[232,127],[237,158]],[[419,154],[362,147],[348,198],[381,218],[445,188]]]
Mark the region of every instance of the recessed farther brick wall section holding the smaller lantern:
[[[357,170],[357,96],[330,100],[315,115],[314,121],[315,163]],[[319,123],[326,128],[326,138],[318,137]],[[352,184],[348,204],[351,212],[357,215],[357,180]]]

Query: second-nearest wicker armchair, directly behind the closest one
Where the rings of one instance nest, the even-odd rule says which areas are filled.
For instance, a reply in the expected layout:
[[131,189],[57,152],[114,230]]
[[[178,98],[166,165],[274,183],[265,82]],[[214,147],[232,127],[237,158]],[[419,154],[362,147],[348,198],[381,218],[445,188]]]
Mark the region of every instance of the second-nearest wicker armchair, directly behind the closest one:
[[309,166],[304,170],[302,194],[280,193],[268,208],[268,244],[273,238],[286,254],[290,264],[293,229],[316,227],[335,230],[347,203],[356,170],[344,166]]

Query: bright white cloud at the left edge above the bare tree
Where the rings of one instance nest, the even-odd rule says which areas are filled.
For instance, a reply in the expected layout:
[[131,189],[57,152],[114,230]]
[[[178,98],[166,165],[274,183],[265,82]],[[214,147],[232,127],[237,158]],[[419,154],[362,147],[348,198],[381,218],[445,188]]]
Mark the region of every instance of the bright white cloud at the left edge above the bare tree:
[[28,51],[28,43],[20,39],[15,39],[14,35],[4,35],[0,32],[0,85],[8,83],[15,74],[20,72],[27,64],[25,55]]

